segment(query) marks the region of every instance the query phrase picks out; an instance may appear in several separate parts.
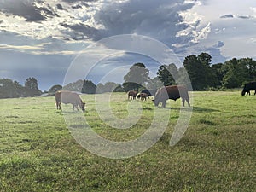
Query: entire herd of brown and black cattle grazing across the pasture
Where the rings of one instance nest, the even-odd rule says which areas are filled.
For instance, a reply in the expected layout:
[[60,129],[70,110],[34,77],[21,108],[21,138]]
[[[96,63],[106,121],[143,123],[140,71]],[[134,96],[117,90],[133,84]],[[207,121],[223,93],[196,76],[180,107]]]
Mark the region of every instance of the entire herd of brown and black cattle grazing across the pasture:
[[[250,90],[255,90],[254,95],[256,94],[256,82],[251,82],[244,85],[243,90],[241,91],[241,95],[244,96],[245,94],[250,95]],[[161,87],[159,90],[142,90],[140,93],[137,93],[135,90],[130,90],[128,92],[128,100],[135,100],[136,98],[141,99],[142,101],[146,101],[147,98],[150,96],[154,96],[155,106],[158,106],[159,103],[162,103],[162,107],[166,107],[166,101],[168,99],[172,99],[176,101],[179,98],[182,98],[183,106],[185,102],[189,103],[189,91],[183,85],[170,85]],[[85,103],[82,101],[80,96],[77,93],[67,90],[59,90],[55,92],[55,102],[57,109],[61,109],[61,102],[62,103],[70,103],[73,105],[74,108],[81,108],[82,111],[85,109]],[[78,108],[79,107],[79,108]]]

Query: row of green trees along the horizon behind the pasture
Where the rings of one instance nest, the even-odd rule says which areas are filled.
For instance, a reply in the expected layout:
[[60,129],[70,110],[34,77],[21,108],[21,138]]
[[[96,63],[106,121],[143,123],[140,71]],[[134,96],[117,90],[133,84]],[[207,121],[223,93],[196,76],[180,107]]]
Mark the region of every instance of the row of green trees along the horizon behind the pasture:
[[[188,79],[188,74],[189,79]],[[175,63],[161,65],[154,78],[143,63],[135,63],[124,76],[124,83],[94,84],[89,79],[80,79],[62,87],[55,84],[48,91],[53,96],[57,90],[73,90],[87,94],[104,92],[126,92],[128,90],[158,89],[162,85],[184,84],[191,82],[193,90],[220,90],[241,88],[243,84],[256,80],[256,61],[252,58],[230,59],[224,63],[212,64],[212,56],[207,53],[186,56],[183,67]],[[0,98],[20,96],[40,96],[38,81],[28,78],[23,85],[11,79],[0,79]]]

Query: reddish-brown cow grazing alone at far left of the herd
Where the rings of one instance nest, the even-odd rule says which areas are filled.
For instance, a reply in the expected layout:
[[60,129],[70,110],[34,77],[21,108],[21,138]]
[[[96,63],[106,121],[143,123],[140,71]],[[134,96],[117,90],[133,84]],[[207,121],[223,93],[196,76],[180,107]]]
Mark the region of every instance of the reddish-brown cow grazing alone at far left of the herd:
[[73,110],[74,108],[77,108],[79,111],[78,106],[82,109],[84,112],[85,103],[81,100],[79,94],[68,91],[68,90],[59,90],[55,92],[55,101],[57,109],[61,109],[61,102],[67,104],[73,104]]

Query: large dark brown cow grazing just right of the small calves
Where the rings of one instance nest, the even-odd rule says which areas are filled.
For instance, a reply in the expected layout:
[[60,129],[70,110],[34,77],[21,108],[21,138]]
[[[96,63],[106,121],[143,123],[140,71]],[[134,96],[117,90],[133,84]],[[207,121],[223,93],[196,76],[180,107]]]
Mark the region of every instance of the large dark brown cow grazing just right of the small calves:
[[183,85],[171,85],[171,86],[165,86],[161,87],[159,90],[157,90],[155,96],[154,96],[154,105],[158,106],[159,103],[162,103],[162,107],[166,108],[166,100],[172,99],[176,101],[178,98],[182,98],[183,101],[183,107],[185,101],[188,102],[188,105],[190,107],[189,103],[189,92],[186,87]]

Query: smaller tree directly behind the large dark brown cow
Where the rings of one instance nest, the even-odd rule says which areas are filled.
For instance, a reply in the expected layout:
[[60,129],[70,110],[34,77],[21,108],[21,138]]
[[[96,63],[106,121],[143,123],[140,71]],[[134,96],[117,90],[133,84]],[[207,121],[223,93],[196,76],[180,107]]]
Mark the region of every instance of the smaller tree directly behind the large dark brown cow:
[[177,84],[176,81],[178,77],[178,72],[177,72],[177,67],[174,63],[168,66],[161,65],[156,74],[157,74],[157,77],[165,86]]

